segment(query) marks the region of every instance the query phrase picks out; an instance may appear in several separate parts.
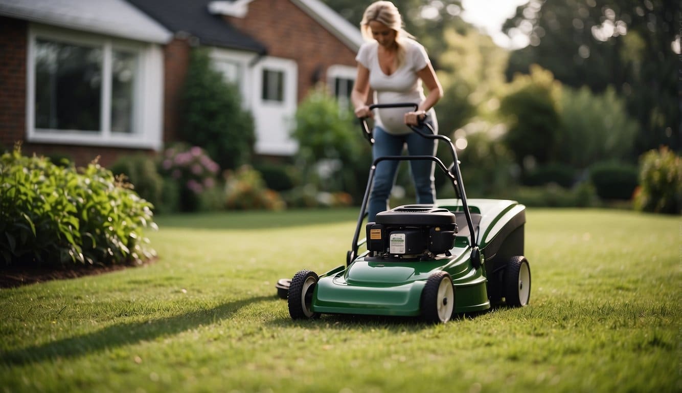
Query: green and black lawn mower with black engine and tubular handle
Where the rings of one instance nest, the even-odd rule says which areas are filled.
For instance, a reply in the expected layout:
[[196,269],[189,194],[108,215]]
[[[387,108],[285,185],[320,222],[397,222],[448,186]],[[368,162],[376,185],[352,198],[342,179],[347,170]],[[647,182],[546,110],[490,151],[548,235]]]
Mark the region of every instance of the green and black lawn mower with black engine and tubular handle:
[[[417,109],[411,103],[374,104],[370,109],[400,107]],[[361,119],[361,126],[374,143],[366,119]],[[301,270],[291,281],[280,280],[276,285],[280,297],[288,299],[292,319],[321,314],[389,315],[441,323],[456,314],[496,305],[528,304],[531,270],[524,257],[526,207],[509,200],[467,199],[454,145],[447,136],[434,134],[428,123],[424,126],[412,130],[449,146],[452,163],[445,166],[436,156],[376,158],[345,265],[319,276]],[[376,165],[387,160],[435,162],[454,187],[456,198],[394,207],[363,225]]]

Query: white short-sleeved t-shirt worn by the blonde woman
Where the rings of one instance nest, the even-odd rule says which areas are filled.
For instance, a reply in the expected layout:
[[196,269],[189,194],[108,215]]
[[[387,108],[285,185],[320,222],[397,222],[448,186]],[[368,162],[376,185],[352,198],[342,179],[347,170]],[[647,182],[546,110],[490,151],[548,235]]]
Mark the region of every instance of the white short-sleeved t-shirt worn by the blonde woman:
[[[424,46],[409,38],[402,39],[405,48],[405,61],[393,74],[387,75],[379,66],[379,42],[366,42],[360,46],[355,60],[370,70],[370,87],[374,90],[374,103],[394,104],[398,102],[414,102],[419,104],[424,100],[424,88],[417,72],[423,70],[430,63]],[[376,125],[389,134],[409,134],[412,132],[405,125],[405,113],[413,111],[411,108],[382,108],[378,110]],[[428,113],[437,127],[436,113],[431,108]],[[437,128],[435,128],[437,130]]]

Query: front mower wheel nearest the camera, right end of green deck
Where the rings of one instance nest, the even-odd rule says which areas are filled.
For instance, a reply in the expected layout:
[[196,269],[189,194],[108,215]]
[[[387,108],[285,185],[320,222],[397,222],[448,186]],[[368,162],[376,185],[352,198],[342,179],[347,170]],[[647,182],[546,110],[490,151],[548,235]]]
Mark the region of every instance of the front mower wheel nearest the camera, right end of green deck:
[[455,309],[455,288],[446,272],[431,274],[421,291],[421,318],[430,323],[445,323]]

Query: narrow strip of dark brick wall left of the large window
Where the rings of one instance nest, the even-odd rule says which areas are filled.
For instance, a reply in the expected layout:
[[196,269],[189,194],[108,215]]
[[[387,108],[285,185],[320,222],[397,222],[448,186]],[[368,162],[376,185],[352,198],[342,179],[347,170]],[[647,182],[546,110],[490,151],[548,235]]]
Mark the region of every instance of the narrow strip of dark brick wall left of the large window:
[[11,148],[26,134],[28,25],[0,16],[0,145]]

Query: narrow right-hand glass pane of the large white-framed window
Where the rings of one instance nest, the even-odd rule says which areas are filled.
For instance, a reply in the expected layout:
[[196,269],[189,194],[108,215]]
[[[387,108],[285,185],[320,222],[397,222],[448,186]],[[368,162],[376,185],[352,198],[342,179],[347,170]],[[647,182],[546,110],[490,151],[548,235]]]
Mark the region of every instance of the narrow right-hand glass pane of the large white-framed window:
[[137,56],[135,53],[113,51],[111,67],[111,132],[132,134],[133,102]]

